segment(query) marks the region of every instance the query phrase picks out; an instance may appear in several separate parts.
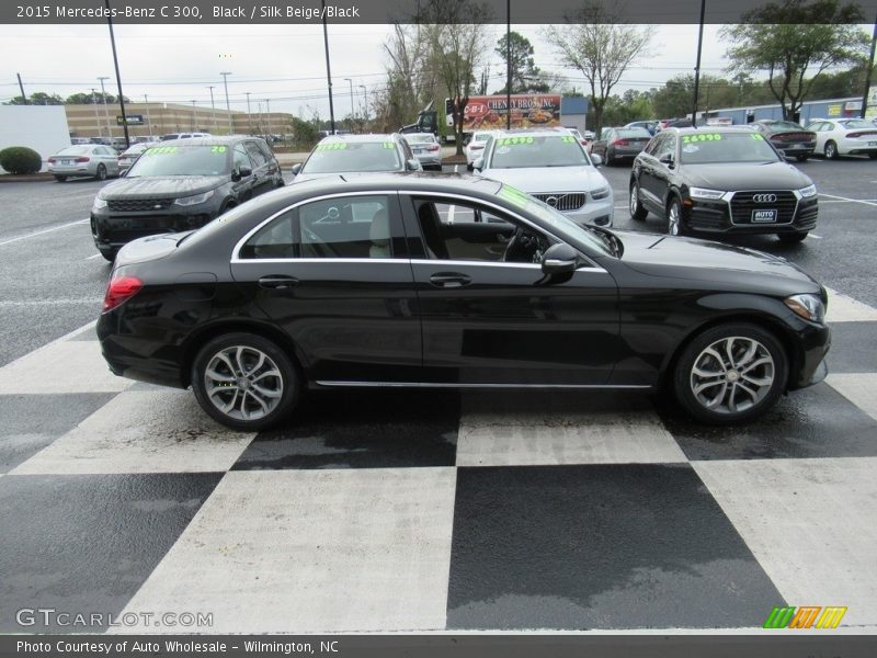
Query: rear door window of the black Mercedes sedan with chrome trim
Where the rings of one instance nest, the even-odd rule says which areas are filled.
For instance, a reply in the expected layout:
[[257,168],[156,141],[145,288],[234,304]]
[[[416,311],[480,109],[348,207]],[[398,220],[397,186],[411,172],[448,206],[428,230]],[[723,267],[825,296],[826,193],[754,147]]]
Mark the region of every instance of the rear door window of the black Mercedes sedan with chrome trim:
[[395,258],[403,239],[395,197],[340,196],[292,208],[255,232],[242,259]]

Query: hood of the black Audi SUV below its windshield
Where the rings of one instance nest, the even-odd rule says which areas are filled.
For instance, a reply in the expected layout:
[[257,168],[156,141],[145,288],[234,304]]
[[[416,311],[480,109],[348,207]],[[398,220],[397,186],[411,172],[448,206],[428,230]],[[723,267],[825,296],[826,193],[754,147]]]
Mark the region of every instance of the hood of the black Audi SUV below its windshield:
[[682,166],[685,183],[709,190],[800,190],[813,181],[788,162]]

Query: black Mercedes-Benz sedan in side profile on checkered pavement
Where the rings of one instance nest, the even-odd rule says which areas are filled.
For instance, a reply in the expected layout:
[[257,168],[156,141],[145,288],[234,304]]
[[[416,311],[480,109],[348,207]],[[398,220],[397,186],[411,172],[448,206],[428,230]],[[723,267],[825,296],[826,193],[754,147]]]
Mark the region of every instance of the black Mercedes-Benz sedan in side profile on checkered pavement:
[[98,334],[114,373],[192,386],[240,430],[350,386],[667,388],[722,423],[825,375],[825,304],[765,253],[583,228],[490,180],[375,174],[128,243]]

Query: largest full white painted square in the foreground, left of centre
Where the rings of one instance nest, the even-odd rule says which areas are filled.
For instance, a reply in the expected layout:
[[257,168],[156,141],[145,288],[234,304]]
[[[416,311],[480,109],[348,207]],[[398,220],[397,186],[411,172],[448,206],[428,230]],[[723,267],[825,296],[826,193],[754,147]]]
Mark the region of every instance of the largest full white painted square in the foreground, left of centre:
[[231,472],[126,610],[213,613],[202,633],[444,629],[455,486],[454,468]]

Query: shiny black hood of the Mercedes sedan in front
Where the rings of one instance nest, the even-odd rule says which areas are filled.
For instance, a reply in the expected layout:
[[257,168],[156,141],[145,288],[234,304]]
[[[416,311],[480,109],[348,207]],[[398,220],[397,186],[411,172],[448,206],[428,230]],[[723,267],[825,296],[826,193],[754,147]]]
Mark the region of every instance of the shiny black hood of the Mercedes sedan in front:
[[724,242],[642,234],[615,232],[624,242],[622,262],[650,276],[745,284],[778,294],[818,293],[819,283],[787,260]]

